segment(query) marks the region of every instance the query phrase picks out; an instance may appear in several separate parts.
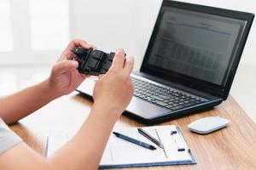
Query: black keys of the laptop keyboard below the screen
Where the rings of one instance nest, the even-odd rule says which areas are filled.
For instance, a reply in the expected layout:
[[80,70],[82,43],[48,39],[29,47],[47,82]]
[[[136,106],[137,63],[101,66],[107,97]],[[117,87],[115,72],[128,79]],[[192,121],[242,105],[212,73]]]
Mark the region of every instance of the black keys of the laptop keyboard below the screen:
[[206,99],[185,94],[172,88],[163,88],[150,82],[131,77],[134,83],[134,96],[144,99],[154,105],[166,107],[172,111],[177,111],[192,105],[199,105],[206,102]]

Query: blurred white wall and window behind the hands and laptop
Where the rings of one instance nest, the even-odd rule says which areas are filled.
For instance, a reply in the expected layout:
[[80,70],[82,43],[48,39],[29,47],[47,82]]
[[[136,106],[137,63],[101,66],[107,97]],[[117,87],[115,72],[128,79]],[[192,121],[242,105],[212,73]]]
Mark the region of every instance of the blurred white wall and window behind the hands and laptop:
[[[255,0],[183,1],[256,13]],[[57,55],[61,54],[61,49],[65,48],[68,39],[80,37],[106,51],[125,48],[127,54],[136,57],[138,68],[161,2],[0,0],[0,65],[52,64]],[[10,42],[11,39],[13,42]],[[256,65],[253,44],[256,44],[255,24],[248,37],[241,64]],[[37,48],[33,47],[35,45]],[[2,48],[13,50],[4,52]]]

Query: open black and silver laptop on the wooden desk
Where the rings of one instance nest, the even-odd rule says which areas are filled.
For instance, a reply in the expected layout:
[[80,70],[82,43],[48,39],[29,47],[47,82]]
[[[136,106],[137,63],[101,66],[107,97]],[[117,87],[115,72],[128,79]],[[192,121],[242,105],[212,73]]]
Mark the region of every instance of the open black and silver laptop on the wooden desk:
[[[164,122],[227,99],[253,14],[164,0],[124,115]],[[77,91],[92,96],[95,80]]]

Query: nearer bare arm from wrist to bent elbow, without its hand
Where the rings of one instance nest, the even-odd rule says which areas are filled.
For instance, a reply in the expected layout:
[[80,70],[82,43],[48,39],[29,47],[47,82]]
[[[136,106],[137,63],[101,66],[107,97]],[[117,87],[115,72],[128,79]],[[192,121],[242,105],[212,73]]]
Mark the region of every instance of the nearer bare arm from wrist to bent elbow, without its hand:
[[0,156],[0,167],[3,170],[98,169],[109,134],[118,117],[117,110],[94,105],[79,132],[49,158],[39,156],[21,143]]

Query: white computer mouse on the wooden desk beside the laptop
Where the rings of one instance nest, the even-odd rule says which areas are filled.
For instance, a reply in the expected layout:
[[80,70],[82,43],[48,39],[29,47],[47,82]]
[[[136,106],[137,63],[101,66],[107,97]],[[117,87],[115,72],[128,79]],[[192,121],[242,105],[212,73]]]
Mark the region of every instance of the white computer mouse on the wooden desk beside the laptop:
[[226,127],[229,123],[229,120],[219,116],[207,116],[196,120],[195,122],[191,122],[188,125],[188,128],[190,131],[195,133],[207,134]]

